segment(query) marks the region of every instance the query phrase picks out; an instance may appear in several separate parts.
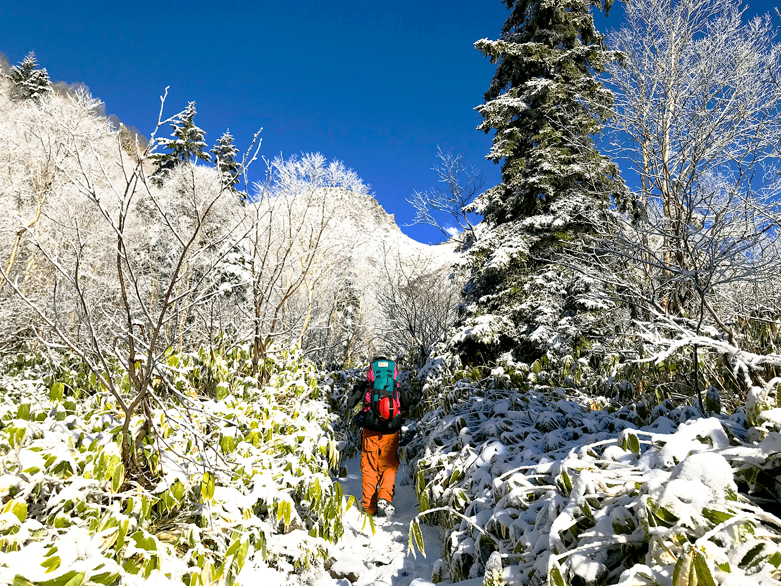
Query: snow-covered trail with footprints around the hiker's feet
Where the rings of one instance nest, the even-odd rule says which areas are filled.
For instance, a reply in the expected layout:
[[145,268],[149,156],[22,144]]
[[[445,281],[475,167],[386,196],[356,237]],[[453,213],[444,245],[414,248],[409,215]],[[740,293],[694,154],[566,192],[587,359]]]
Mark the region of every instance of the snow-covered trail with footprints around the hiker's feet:
[[[348,460],[348,475],[341,478],[345,498],[355,496],[361,502],[360,456]],[[407,552],[409,522],[418,513],[418,501],[412,484],[401,484],[408,477],[409,467],[401,463],[396,474],[393,505],[396,514],[390,519],[374,517],[376,533],[372,534],[368,517],[353,506],[344,513],[344,537],[331,549],[337,561],[330,568],[330,580],[316,582],[316,586],[427,586],[431,584],[431,570],[440,556],[442,544],[437,527],[421,524],[426,557]],[[413,584],[414,582],[414,584]]]

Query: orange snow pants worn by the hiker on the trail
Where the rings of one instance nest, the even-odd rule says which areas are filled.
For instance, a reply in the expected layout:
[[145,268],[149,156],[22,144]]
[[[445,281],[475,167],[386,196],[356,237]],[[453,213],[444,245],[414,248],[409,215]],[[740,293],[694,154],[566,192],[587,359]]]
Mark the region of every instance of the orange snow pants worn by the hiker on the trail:
[[363,430],[361,442],[361,475],[363,477],[363,509],[377,512],[377,499],[391,502],[398,470],[398,431],[381,434]]

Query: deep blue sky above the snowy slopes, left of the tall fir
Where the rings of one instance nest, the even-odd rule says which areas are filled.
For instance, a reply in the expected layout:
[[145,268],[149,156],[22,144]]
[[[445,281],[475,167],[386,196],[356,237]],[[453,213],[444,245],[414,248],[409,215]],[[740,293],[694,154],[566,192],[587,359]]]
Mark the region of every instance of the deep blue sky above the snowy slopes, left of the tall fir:
[[[402,230],[438,241],[403,226],[405,197],[436,184],[437,145],[498,182],[473,110],[494,66],[473,42],[497,38],[507,14],[499,0],[2,2],[0,52],[15,64],[34,50],[52,80],[84,82],[147,135],[170,86],[166,113],[196,102],[210,145],[230,128],[245,148],[263,127],[268,158],[341,159]],[[620,18],[616,6],[597,26]]]

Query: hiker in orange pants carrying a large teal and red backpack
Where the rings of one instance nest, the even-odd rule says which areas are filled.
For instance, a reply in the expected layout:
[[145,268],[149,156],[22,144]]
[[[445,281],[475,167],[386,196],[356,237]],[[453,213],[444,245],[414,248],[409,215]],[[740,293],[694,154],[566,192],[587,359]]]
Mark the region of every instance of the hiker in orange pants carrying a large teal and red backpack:
[[369,515],[391,516],[396,512],[391,501],[399,466],[399,430],[404,423],[401,411],[409,408],[393,360],[385,356],[372,360],[366,381],[355,385],[348,398],[348,409],[355,409],[361,400],[363,408],[353,420],[363,428],[363,510]]

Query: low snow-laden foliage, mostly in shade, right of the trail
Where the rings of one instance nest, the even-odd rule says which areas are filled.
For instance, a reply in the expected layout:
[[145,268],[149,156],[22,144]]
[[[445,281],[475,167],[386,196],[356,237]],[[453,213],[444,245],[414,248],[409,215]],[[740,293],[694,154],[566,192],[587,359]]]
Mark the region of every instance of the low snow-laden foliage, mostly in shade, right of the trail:
[[484,573],[493,584],[497,552],[519,584],[781,577],[781,520],[747,496],[779,467],[767,392],[749,430],[743,408],[704,417],[668,401],[649,413],[540,384],[507,389],[519,380],[512,367],[462,378],[419,423],[412,525],[444,528],[435,581]]

